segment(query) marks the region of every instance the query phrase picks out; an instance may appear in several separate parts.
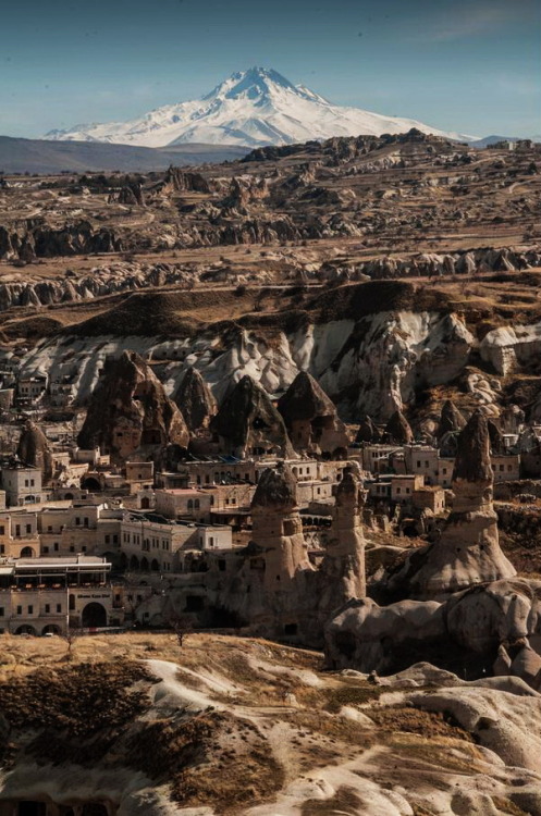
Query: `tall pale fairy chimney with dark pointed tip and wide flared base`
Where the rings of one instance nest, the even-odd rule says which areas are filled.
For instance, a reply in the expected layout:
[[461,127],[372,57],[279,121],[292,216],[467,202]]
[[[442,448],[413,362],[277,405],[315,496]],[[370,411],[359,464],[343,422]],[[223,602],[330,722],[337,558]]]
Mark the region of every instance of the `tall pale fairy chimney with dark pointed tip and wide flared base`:
[[[411,556],[398,573],[410,595],[434,597],[516,574],[500,547],[492,485],[487,419],[477,410],[458,437],[453,511],[442,534]],[[391,578],[391,584],[398,576]]]

